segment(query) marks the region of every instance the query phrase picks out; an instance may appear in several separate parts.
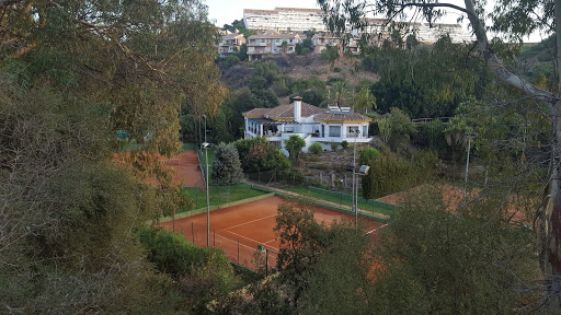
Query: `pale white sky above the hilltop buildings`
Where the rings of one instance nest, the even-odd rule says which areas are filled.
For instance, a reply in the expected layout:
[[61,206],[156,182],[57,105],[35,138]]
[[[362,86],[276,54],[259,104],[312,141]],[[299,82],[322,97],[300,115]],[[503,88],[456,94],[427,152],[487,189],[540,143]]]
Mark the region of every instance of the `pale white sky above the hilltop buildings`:
[[[463,8],[462,0],[450,0],[446,2],[458,4]],[[488,2],[489,4],[485,8],[485,11],[491,11],[492,3],[494,1],[490,0]],[[215,24],[219,27],[222,27],[224,24],[230,24],[233,20],[242,20],[243,9],[273,10],[276,7],[319,9],[316,0],[206,0],[205,3],[208,5],[208,18],[210,21],[215,20]],[[457,19],[458,13],[450,11],[450,14],[439,22],[456,23]],[[463,26],[466,27],[466,25]],[[541,40],[541,36],[539,34],[533,34],[529,38],[524,38],[524,40],[536,43]]]

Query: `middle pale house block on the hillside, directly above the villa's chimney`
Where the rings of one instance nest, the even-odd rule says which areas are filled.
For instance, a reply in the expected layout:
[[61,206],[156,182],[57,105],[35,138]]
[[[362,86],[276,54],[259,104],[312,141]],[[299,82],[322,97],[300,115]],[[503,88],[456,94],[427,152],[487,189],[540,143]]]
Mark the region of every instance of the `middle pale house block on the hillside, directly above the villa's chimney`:
[[[296,44],[304,39],[306,35],[299,33],[252,35],[248,38],[248,57],[250,60],[259,60],[265,55],[294,54]],[[283,45],[285,42],[286,46]]]

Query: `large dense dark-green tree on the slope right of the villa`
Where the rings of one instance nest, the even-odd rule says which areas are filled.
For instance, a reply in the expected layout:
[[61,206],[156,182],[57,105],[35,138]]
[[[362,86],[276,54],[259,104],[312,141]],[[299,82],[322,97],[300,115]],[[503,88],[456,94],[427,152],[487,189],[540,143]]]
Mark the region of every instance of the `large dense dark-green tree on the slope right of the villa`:
[[483,89],[485,73],[479,54],[453,44],[448,36],[432,48],[377,50],[365,51],[380,68],[373,91],[382,113],[398,107],[413,118],[449,117],[458,104]]

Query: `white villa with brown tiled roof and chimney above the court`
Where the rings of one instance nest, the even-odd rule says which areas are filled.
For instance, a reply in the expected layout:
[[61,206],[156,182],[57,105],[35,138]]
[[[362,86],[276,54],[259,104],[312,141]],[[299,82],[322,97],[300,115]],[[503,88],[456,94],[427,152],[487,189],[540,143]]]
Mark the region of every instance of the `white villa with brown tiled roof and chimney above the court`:
[[298,135],[306,141],[304,152],[308,152],[308,148],[316,142],[324,150],[331,150],[331,143],[345,140],[350,144],[355,141],[367,143],[373,139],[368,138],[371,118],[353,113],[350,107],[316,107],[302,103],[302,98],[298,96],[293,104],[275,108],[253,108],[242,115],[245,117],[245,139],[266,137],[285,154],[287,151],[284,150],[284,141],[293,135]]

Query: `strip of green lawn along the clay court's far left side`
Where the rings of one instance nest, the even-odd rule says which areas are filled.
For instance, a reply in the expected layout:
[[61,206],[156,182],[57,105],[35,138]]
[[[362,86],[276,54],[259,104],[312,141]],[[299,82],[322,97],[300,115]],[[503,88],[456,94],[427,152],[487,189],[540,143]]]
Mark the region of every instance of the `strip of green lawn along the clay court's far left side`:
[[[218,206],[266,194],[251,188],[251,185],[248,184],[238,184],[232,186],[210,185],[208,191],[210,206]],[[183,189],[183,195],[193,200],[193,203],[195,203],[194,209],[206,207],[206,191],[199,189]],[[178,213],[185,211],[188,210],[181,209]]]

